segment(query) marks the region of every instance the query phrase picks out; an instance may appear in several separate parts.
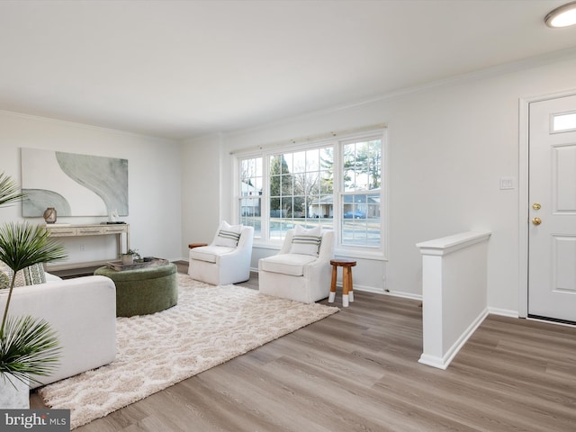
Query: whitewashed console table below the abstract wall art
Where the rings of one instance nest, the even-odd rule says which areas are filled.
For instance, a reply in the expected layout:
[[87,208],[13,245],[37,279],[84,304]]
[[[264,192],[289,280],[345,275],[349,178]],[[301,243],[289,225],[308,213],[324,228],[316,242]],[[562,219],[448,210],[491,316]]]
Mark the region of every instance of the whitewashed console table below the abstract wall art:
[[[128,223],[94,223],[86,225],[54,224],[46,225],[50,237],[83,237],[83,236],[116,236],[119,257],[122,253],[122,235],[126,238],[126,250],[130,249],[130,225]],[[115,259],[115,258],[114,258]],[[110,260],[107,260],[110,261]],[[49,265],[49,270],[67,270],[81,266],[102,266],[107,261],[90,261],[85,263]]]

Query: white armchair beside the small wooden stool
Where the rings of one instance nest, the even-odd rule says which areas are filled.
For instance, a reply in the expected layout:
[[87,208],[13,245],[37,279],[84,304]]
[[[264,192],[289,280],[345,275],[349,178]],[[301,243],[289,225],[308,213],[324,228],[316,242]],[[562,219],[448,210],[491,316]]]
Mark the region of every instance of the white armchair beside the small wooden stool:
[[302,248],[294,247],[294,234],[294,229],[286,233],[284,245],[277,255],[258,261],[260,293],[296,302],[318,302],[327,298],[330,292],[334,232],[320,231],[318,255],[294,253],[302,251]]

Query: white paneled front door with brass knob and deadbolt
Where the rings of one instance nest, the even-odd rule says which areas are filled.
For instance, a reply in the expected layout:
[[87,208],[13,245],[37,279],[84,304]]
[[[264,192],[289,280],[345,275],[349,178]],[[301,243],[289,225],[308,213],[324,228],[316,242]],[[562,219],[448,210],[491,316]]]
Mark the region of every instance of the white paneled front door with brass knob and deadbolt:
[[576,322],[576,96],[529,110],[528,315]]

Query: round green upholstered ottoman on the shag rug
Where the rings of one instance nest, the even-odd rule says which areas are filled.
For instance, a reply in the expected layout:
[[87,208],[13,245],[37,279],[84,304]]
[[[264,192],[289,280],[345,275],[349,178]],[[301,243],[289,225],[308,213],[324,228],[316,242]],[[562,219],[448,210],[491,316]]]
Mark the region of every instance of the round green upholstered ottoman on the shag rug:
[[104,266],[97,268],[94,275],[114,281],[117,317],[164,311],[178,302],[176,266],[172,263],[122,271]]

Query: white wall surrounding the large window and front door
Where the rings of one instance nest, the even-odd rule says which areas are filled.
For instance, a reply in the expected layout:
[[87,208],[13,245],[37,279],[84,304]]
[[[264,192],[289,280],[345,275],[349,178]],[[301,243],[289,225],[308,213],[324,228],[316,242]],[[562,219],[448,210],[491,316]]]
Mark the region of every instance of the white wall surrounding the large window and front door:
[[[391,292],[419,296],[422,265],[416,243],[471,229],[490,230],[489,307],[514,314],[518,290],[525,289],[518,286],[519,260],[523,259],[518,247],[518,198],[520,192],[527,193],[518,190],[518,101],[576,89],[575,76],[572,58],[494,69],[372,103],[222,135],[220,152],[193,151],[211,145],[211,139],[197,139],[186,143],[187,157],[200,166],[220,164],[220,208],[230,209],[230,149],[387,122],[389,261],[359,262],[355,285],[372,285],[377,291],[385,277],[385,287]],[[218,161],[214,159],[217,153]],[[193,182],[193,174],[188,174]],[[501,176],[514,177],[515,188],[500,190]],[[201,193],[189,195],[191,200],[200,198]],[[184,211],[184,219],[191,216]],[[220,217],[234,220],[235,215],[230,209]],[[214,223],[203,226],[211,229]],[[202,227],[194,229],[202,231]],[[257,267],[257,257],[272,253],[255,250],[252,266]]]

